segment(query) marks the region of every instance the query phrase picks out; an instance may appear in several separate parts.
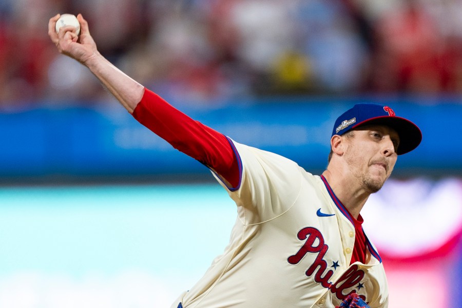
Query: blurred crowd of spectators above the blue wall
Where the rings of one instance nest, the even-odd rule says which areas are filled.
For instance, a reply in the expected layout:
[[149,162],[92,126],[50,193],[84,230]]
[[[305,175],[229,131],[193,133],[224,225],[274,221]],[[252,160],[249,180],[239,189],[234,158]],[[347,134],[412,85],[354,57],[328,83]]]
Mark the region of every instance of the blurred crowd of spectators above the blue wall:
[[0,0],[2,108],[107,101],[50,42],[56,13],[177,102],[462,94],[462,0]]

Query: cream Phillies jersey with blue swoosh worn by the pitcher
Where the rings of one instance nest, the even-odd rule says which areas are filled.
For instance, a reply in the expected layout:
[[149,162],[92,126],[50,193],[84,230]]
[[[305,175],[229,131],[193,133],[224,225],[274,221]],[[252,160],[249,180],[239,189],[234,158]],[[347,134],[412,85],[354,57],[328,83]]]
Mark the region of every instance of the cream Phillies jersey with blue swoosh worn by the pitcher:
[[232,144],[241,182],[229,189],[220,181],[237,204],[229,244],[172,308],[332,308],[350,293],[387,307],[376,248],[368,241],[367,264],[350,265],[354,225],[325,179],[275,153]]

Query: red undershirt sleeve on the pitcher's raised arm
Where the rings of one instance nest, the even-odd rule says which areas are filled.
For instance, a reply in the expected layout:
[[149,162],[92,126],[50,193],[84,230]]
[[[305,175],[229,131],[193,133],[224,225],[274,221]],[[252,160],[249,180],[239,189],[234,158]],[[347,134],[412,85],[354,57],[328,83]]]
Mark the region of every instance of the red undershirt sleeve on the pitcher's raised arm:
[[239,186],[234,146],[222,133],[192,120],[146,88],[132,115],[174,148],[213,168],[232,185],[229,188]]

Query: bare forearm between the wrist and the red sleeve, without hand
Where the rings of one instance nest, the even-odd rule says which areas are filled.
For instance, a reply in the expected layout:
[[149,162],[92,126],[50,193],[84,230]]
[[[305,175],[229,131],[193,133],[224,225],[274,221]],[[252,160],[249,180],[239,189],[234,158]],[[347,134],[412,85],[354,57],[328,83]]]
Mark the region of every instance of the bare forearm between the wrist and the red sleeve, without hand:
[[108,91],[128,110],[133,113],[144,94],[144,86],[131,79],[120,69],[111,64],[101,54],[94,53],[84,63]]

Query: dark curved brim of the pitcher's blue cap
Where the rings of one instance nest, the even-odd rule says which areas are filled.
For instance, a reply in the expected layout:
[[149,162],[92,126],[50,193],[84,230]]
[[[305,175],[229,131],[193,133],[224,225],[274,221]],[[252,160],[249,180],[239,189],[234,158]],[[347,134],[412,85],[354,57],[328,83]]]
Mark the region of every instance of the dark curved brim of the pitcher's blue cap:
[[399,136],[399,146],[396,153],[398,155],[406,154],[413,149],[415,149],[420,142],[422,141],[422,132],[417,125],[409,121],[408,119],[401,118],[401,117],[376,117],[371,118],[366,121],[357,123],[355,126],[352,127],[358,128],[363,125],[372,125],[372,124],[379,124],[379,125],[387,125],[396,130]]

